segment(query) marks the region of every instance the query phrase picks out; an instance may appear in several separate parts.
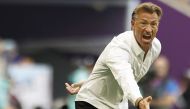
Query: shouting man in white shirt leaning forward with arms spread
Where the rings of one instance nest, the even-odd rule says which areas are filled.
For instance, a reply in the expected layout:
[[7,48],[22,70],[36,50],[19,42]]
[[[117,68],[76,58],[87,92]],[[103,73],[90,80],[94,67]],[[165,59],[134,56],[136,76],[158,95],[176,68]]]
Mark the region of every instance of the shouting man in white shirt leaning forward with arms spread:
[[160,54],[156,34],[161,16],[162,9],[156,4],[138,5],[132,13],[132,31],[113,38],[87,81],[66,83],[71,93],[78,92],[76,109],[117,109],[120,102],[128,100],[139,109],[149,108],[152,97],[143,98],[137,82]]

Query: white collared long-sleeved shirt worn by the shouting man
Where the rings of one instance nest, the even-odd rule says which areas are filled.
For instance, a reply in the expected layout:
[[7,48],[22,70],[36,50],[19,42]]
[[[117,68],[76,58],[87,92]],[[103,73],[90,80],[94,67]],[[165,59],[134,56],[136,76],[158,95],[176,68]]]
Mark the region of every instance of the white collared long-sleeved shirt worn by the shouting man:
[[161,44],[154,38],[143,61],[145,52],[132,31],[114,37],[98,58],[76,101],[86,101],[98,109],[118,109],[123,100],[130,100],[135,105],[137,98],[142,97],[137,82],[147,73],[160,51]]

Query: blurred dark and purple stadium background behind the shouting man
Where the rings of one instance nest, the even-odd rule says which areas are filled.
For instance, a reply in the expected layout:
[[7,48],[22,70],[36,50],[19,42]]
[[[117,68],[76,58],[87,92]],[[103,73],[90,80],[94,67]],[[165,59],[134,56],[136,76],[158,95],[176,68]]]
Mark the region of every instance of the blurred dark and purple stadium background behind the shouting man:
[[151,109],[189,109],[190,0],[0,0],[0,109],[74,109],[64,83],[85,80],[147,1],[164,12],[162,52],[142,93],[155,96]]

